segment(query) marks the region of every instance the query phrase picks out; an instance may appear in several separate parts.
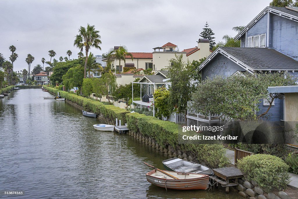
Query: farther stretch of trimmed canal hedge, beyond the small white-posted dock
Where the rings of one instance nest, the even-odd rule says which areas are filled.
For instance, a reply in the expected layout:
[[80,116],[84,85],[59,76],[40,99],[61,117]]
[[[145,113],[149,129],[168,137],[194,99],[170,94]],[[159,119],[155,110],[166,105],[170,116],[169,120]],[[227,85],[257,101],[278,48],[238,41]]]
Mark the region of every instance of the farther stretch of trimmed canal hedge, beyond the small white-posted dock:
[[128,113],[129,111],[125,109],[121,109],[113,105],[105,105],[100,101],[95,101],[89,98],[85,98],[66,91],[61,91],[55,88],[46,87],[46,89],[49,90],[49,92],[52,92],[56,95],[59,92],[59,95],[62,98],[65,98],[75,104],[78,104],[84,107],[86,111],[94,112],[97,115],[103,114],[104,117],[110,118],[113,121],[116,121],[116,118],[118,118],[118,120],[122,121],[122,124],[126,122],[125,114]]

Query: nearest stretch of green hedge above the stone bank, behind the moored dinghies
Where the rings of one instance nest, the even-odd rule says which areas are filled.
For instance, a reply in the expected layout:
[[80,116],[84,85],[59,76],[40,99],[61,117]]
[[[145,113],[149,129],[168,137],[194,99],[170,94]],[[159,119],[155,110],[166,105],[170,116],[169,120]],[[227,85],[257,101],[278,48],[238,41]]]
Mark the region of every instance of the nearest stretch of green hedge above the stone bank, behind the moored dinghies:
[[187,151],[207,166],[218,168],[229,163],[225,156],[226,149],[222,144],[178,144],[178,133],[182,130],[178,124],[139,113],[126,114],[126,120],[128,128],[133,132],[147,135],[164,147],[171,146],[174,149]]

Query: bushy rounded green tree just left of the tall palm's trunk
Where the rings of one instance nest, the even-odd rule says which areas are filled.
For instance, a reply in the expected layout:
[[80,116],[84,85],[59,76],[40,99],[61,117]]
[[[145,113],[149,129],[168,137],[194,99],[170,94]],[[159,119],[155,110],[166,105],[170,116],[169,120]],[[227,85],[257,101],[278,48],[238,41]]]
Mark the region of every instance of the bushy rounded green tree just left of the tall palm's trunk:
[[63,84],[66,88],[82,87],[84,78],[84,68],[77,64],[76,67],[70,68],[65,75],[62,76]]

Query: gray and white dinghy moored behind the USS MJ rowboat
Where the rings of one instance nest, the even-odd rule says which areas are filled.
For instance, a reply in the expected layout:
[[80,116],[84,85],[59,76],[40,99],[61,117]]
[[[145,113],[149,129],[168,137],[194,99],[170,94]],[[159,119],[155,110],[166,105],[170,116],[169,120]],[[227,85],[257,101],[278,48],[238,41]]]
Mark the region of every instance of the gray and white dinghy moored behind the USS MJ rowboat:
[[182,160],[179,158],[171,158],[162,161],[164,168],[168,171],[183,172],[183,173],[198,173],[205,175],[214,175],[212,169],[195,162]]

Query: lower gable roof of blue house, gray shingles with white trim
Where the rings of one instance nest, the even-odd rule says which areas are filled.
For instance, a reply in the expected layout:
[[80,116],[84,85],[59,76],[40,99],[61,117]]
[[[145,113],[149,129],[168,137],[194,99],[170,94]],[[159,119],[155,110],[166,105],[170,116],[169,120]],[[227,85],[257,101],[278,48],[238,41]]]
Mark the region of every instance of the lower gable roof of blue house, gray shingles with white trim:
[[219,53],[251,73],[253,73],[254,70],[298,70],[298,61],[274,49],[218,47],[218,49],[201,64],[199,71]]

